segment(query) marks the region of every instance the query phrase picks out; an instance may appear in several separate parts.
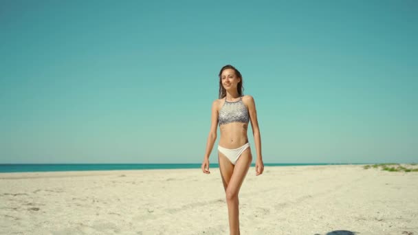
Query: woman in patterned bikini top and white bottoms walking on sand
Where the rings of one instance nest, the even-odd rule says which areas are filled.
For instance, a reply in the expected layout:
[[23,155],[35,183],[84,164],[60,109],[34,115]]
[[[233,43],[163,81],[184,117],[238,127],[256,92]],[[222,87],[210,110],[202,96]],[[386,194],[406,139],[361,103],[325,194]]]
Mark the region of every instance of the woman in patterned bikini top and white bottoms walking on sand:
[[256,175],[263,173],[264,165],[254,99],[252,96],[243,96],[243,78],[232,65],[225,65],[219,72],[219,99],[212,103],[211,120],[201,169],[203,173],[210,174],[209,156],[217,139],[219,124],[221,138],[218,145],[218,160],[228,204],[230,234],[239,234],[238,193],[252,162],[247,137],[248,122],[251,122],[256,146]]

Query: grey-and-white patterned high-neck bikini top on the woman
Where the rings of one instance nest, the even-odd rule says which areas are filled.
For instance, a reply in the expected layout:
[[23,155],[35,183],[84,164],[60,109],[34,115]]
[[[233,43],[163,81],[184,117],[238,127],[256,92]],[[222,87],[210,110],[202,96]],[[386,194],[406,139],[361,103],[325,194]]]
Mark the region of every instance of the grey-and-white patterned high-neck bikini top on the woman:
[[223,106],[218,114],[219,126],[223,124],[228,124],[231,122],[244,122],[248,123],[250,121],[250,115],[248,113],[247,107],[243,103],[243,98],[239,98],[235,102],[223,102]]

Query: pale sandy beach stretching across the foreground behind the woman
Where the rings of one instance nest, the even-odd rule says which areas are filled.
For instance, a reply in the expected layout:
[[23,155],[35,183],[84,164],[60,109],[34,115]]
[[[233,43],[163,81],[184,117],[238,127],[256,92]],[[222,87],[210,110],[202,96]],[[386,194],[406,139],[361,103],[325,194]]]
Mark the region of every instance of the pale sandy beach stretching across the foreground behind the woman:
[[[219,168],[210,172],[0,173],[0,232],[229,234]],[[241,234],[418,235],[418,172],[266,166],[256,177],[252,167],[239,201]]]

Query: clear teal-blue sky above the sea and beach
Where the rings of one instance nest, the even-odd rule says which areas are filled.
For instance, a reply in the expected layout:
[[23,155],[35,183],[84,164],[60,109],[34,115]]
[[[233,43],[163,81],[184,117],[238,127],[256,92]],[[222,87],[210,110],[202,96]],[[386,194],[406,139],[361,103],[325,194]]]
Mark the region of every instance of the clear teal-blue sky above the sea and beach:
[[201,163],[226,64],[265,163],[417,162],[417,25],[413,0],[3,0],[0,163]]

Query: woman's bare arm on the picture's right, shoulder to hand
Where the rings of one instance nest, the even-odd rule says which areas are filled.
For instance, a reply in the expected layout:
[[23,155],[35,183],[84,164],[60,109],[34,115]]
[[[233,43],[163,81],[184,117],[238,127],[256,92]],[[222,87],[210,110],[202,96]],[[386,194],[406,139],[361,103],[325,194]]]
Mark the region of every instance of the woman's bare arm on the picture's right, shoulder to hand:
[[256,144],[256,175],[263,174],[264,164],[263,164],[263,157],[261,155],[261,135],[260,135],[260,128],[259,128],[259,121],[257,120],[257,111],[256,111],[256,104],[254,102],[254,98],[252,96],[245,96],[245,103],[248,106],[248,113],[250,114],[250,122],[252,127],[252,134],[254,135],[254,143]]

